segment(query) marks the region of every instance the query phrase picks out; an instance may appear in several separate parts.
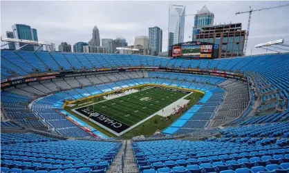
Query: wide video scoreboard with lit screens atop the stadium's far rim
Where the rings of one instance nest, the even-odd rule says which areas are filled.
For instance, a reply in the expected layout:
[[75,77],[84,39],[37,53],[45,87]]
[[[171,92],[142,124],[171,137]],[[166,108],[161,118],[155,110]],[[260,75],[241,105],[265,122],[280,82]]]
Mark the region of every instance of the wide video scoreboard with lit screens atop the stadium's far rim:
[[214,59],[218,57],[218,45],[196,41],[179,43],[169,48],[169,57]]

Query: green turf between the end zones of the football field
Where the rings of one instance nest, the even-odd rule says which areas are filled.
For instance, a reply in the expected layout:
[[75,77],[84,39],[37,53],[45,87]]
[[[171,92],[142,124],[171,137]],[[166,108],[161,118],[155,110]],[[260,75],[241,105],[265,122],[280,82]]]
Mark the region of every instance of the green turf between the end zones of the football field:
[[187,94],[183,91],[149,88],[86,107],[127,125],[134,125]]

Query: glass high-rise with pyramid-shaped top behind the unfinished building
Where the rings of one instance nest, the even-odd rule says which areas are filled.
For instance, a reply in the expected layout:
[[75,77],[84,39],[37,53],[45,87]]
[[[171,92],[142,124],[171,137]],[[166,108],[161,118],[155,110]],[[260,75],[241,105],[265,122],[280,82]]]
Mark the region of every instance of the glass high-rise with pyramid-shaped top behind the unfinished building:
[[199,10],[195,15],[192,41],[196,41],[196,34],[200,33],[201,27],[212,26],[213,24],[214,13],[209,12],[207,6],[203,6],[203,8],[201,8],[201,10]]

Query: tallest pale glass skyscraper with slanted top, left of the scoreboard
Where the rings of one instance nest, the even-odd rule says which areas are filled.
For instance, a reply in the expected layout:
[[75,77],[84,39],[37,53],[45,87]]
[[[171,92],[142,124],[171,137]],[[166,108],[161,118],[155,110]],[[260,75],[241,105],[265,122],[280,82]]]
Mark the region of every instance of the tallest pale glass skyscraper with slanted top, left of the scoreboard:
[[168,46],[183,43],[185,31],[185,6],[169,5]]

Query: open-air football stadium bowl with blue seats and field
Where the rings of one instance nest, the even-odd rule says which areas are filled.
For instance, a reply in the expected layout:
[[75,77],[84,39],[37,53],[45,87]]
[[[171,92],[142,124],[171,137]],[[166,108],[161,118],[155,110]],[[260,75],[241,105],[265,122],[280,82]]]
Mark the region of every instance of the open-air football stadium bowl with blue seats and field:
[[288,172],[288,69],[1,50],[1,172]]

